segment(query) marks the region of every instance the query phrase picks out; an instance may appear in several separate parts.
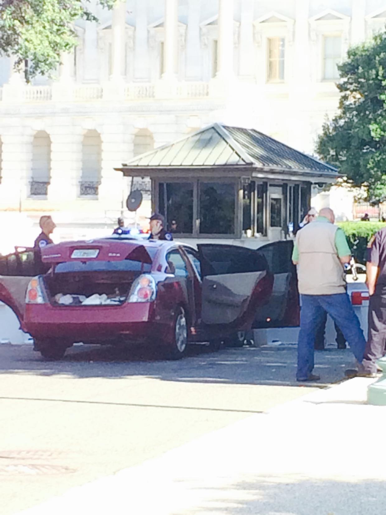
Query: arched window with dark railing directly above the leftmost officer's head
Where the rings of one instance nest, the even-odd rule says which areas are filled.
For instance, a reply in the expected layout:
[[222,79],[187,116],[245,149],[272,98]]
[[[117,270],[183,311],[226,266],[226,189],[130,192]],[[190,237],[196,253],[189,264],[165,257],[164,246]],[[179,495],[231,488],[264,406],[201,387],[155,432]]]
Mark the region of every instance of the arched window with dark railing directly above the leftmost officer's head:
[[33,136],[30,195],[47,196],[51,177],[51,140],[40,130]]

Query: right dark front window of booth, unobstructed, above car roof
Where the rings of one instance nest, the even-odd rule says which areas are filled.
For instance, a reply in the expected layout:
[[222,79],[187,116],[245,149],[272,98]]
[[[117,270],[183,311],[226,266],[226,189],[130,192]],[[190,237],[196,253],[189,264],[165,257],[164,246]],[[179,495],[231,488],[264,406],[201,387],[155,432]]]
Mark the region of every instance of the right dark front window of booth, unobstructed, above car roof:
[[200,233],[235,233],[235,184],[200,182]]

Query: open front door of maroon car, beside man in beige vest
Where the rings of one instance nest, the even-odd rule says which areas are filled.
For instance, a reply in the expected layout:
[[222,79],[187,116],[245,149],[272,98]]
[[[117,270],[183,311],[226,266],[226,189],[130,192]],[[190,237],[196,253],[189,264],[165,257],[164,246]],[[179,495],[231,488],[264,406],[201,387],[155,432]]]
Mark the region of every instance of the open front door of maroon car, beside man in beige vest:
[[266,259],[274,282],[271,298],[256,312],[254,329],[296,327],[300,324],[299,291],[292,250],[292,240],[269,243],[256,250]]

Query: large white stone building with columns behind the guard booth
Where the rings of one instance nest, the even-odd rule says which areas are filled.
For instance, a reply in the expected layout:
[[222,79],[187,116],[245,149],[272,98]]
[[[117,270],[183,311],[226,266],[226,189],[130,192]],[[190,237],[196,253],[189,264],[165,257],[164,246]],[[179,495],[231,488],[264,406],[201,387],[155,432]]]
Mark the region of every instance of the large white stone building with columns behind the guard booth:
[[109,232],[130,189],[113,167],[214,122],[312,153],[338,106],[337,63],[386,22],[386,0],[91,6],[99,23],[76,23],[57,77],[26,84],[0,59],[0,252],[31,244],[46,212],[57,240]]

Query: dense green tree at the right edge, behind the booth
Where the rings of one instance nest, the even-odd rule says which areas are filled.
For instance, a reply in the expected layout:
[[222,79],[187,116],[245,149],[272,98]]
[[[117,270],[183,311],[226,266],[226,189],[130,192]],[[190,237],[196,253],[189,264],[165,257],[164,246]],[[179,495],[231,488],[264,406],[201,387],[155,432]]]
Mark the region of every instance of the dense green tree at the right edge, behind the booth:
[[386,32],[350,48],[339,72],[339,112],[323,125],[317,152],[379,203],[386,199]]

